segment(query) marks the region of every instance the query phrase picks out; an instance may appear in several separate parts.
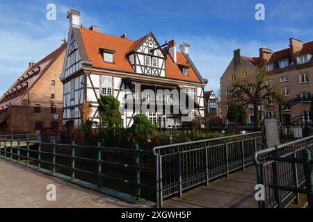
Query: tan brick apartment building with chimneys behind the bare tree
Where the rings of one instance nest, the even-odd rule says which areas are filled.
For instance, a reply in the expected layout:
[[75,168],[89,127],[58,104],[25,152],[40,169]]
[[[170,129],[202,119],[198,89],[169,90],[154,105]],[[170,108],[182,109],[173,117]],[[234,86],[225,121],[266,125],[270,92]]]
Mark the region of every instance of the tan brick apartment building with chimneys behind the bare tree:
[[[258,68],[266,69],[266,82],[272,84],[282,94],[285,106],[282,117],[293,119],[306,116],[310,111],[310,97],[313,92],[313,42],[303,43],[291,38],[289,47],[273,52],[271,49],[259,49],[259,57],[241,56],[240,49],[234,51],[234,58],[220,78],[220,92],[223,119],[227,115],[227,93],[237,78],[255,80]],[[261,109],[262,110],[262,109]],[[248,106],[248,124],[253,124],[253,107]],[[262,115],[272,114],[279,119],[279,106],[273,104]]]

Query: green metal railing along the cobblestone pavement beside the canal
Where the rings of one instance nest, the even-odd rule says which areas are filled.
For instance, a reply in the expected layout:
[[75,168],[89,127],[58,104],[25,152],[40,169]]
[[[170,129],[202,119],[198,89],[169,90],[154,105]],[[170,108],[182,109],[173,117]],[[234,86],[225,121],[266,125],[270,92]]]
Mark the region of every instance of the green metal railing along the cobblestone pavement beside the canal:
[[[138,145],[134,148],[109,148],[100,144],[80,146],[74,142],[35,141],[33,135],[0,137],[2,159],[131,202],[142,200],[143,188],[155,191],[154,182],[149,185],[142,178],[142,172],[154,173],[153,168],[144,166],[143,157],[147,156],[154,158],[151,151],[142,150]],[[116,174],[117,169],[122,176]],[[109,180],[108,187],[106,181]],[[118,189],[119,182],[127,185],[127,189]]]

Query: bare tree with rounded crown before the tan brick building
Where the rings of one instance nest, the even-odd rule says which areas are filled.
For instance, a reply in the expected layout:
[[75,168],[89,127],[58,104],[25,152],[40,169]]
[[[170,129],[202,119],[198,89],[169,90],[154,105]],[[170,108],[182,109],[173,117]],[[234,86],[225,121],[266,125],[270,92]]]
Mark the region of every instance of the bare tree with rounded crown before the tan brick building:
[[253,105],[255,115],[255,128],[259,127],[259,106],[268,105],[273,103],[281,103],[282,96],[275,89],[273,82],[266,78],[266,71],[259,69],[255,80],[250,78],[239,78],[232,84],[230,94],[228,95],[229,103],[236,103],[243,105],[246,109],[248,105]]

